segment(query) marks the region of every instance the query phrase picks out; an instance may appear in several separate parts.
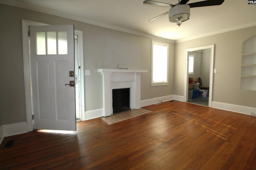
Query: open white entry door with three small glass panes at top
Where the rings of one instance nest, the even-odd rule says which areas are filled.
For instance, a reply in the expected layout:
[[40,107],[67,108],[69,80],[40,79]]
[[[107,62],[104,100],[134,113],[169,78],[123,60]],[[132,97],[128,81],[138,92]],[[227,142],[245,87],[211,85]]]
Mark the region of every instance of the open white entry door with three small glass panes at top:
[[75,131],[74,25],[31,26],[30,68],[34,129]]

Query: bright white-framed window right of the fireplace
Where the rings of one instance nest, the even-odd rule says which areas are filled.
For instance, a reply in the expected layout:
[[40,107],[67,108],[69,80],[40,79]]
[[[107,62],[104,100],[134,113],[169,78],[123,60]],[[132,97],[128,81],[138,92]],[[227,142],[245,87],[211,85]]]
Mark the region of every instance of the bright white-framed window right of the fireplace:
[[152,40],[152,82],[151,86],[168,84],[169,44]]

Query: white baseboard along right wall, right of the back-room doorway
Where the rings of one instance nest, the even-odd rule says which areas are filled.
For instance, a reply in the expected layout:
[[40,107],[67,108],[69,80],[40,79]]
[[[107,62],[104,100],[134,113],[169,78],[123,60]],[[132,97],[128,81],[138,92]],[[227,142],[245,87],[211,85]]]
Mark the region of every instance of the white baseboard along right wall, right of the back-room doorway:
[[216,109],[233,111],[236,113],[242,113],[246,115],[251,115],[251,112],[256,113],[256,107],[247,107],[247,106],[240,106],[240,105],[227,104],[227,103],[221,103],[221,102],[212,102],[212,107]]

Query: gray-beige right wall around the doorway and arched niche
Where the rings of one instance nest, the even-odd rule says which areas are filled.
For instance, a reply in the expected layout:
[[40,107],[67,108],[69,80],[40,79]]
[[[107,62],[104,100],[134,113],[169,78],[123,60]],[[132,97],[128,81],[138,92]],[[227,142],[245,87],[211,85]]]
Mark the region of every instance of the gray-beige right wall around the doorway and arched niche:
[[256,35],[256,26],[193,39],[175,44],[174,94],[184,96],[185,51],[214,44],[212,101],[256,107],[256,91],[240,90],[242,43]]

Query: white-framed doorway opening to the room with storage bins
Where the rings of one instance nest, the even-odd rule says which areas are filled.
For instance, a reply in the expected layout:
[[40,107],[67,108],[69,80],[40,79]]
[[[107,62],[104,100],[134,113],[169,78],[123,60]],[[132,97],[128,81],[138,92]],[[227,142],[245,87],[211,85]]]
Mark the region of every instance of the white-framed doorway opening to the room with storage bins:
[[[208,54],[208,55],[206,55]],[[194,58],[194,72],[191,74],[191,69],[189,71],[189,56],[196,56]],[[208,59],[206,57],[209,57]],[[203,58],[205,57],[205,58]],[[185,81],[184,81],[184,102],[191,102],[194,104],[200,104],[204,106],[212,106],[212,79],[213,79],[213,63],[214,63],[214,45],[207,45],[202,47],[195,47],[191,49],[186,49],[186,56],[185,56]],[[208,64],[207,64],[208,63]],[[202,70],[204,70],[202,72]],[[203,77],[202,79],[205,86],[209,86],[208,92],[206,97],[199,98],[196,96],[196,92],[192,98],[192,101],[188,101],[188,79],[189,77],[196,78],[198,81],[199,77]],[[202,92],[202,91],[200,91]]]

